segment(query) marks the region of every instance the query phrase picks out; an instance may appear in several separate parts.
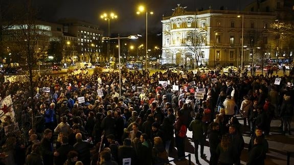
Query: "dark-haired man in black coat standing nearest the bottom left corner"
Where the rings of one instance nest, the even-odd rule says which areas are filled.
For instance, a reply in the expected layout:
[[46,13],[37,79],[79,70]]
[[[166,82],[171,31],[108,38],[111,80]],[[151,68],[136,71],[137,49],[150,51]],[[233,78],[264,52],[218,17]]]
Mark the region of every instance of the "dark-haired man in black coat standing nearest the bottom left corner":
[[51,141],[52,131],[50,129],[44,130],[44,137],[41,139],[41,155],[43,157],[44,165],[53,164],[53,143]]

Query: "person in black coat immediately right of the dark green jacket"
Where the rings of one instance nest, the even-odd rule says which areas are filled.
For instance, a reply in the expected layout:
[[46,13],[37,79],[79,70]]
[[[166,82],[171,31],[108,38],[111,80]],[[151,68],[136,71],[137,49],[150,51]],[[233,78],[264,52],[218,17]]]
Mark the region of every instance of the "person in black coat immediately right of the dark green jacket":
[[210,131],[208,133],[209,138],[209,151],[210,151],[210,159],[209,164],[214,165],[217,164],[217,154],[216,148],[217,145],[220,143],[220,134],[219,134],[219,124],[218,123],[211,123],[210,124]]

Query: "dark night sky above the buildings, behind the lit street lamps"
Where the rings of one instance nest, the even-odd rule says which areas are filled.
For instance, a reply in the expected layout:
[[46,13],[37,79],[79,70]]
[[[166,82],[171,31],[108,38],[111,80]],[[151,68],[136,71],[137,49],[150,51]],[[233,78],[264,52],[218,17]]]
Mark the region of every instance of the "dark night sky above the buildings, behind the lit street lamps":
[[[24,0],[22,0],[24,1]],[[91,23],[97,23],[107,34],[107,21],[100,18],[104,12],[115,12],[118,19],[110,20],[110,33],[120,33],[121,35],[144,34],[145,14],[137,15],[139,4],[146,4],[153,15],[148,16],[148,33],[161,33],[162,15],[171,16],[172,9],[177,4],[186,7],[187,11],[220,9],[224,7],[228,10],[243,9],[245,5],[255,0],[31,0],[39,9],[39,16],[44,20],[56,21],[60,18],[76,18]]]

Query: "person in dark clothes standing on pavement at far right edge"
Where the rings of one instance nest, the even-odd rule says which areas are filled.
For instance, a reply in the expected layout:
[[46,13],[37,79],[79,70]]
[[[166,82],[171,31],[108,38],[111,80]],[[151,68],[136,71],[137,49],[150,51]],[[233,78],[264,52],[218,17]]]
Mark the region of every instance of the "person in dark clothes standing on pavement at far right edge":
[[291,135],[291,119],[293,116],[293,103],[290,101],[290,96],[284,95],[284,101],[281,106],[280,116],[283,119],[283,132],[285,135],[286,130],[288,130],[289,135]]

